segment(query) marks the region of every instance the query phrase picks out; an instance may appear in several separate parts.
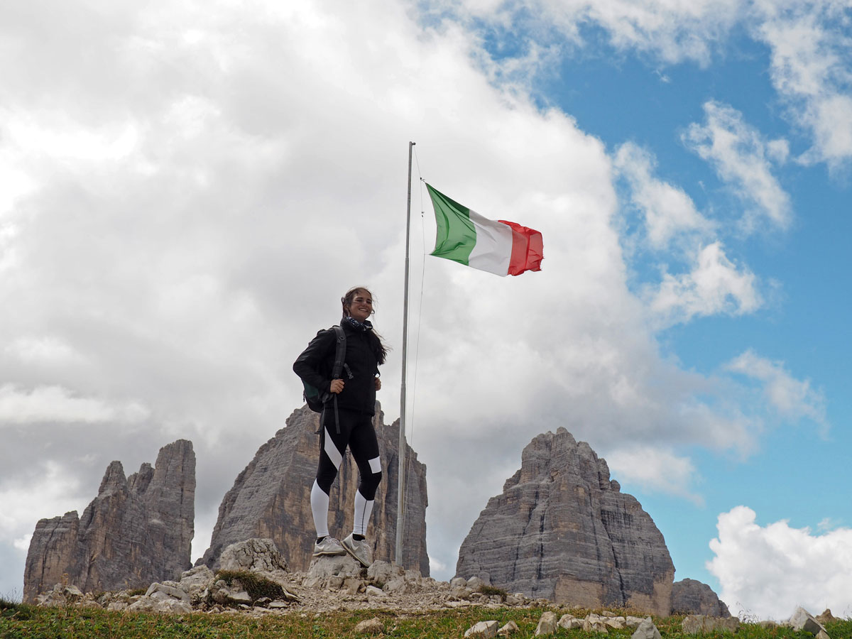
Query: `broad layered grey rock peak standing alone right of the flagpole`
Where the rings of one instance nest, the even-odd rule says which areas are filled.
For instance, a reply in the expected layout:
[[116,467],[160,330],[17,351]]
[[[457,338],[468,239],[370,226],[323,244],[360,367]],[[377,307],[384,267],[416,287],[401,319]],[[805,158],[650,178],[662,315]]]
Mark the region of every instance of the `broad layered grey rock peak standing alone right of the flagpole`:
[[521,469],[488,500],[459,552],[456,574],[583,607],[668,615],[675,568],[636,498],[605,460],[566,429],[538,435]]

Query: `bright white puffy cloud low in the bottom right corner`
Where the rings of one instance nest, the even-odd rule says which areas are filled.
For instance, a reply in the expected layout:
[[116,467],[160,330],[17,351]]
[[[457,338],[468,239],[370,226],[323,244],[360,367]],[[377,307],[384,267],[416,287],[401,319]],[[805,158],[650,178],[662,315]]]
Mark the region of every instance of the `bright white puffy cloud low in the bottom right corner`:
[[852,592],[852,529],[814,535],[788,521],[766,527],[757,515],[737,506],[719,515],[716,555],[707,569],[719,580],[731,613],[759,619],[787,619],[797,606],[843,611]]

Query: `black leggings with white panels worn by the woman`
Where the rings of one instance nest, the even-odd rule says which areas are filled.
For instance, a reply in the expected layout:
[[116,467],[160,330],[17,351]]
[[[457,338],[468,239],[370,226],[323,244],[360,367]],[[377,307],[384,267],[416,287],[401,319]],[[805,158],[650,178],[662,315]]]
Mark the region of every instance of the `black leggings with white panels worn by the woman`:
[[382,481],[382,464],[378,458],[378,440],[376,429],[372,425],[372,416],[344,409],[339,409],[337,415],[340,419],[339,434],[334,409],[329,406],[323,413],[317,486],[320,486],[326,495],[331,492],[331,484],[334,483],[337,469],[343,462],[346,446],[349,446],[360,474],[358,492],[367,501],[371,501],[376,497],[376,489]]

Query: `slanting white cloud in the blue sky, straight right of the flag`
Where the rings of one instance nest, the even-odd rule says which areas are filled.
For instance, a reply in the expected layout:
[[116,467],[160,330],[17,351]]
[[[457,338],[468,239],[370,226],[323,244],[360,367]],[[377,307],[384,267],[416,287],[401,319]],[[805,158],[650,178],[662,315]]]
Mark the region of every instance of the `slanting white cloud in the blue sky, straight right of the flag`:
[[615,153],[614,164],[630,183],[632,200],[645,215],[648,240],[654,248],[665,249],[682,233],[711,230],[711,222],[681,188],[653,176],[656,160],[646,149],[625,142]]

